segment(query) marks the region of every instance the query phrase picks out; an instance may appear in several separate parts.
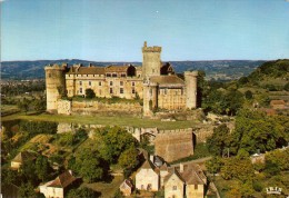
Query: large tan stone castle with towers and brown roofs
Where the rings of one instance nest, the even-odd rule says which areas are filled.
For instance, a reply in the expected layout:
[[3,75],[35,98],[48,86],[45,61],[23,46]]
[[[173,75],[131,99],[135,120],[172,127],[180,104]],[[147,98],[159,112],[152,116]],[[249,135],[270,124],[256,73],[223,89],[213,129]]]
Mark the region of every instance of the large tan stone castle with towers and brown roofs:
[[162,63],[161,47],[142,47],[141,66],[68,67],[46,66],[47,111],[58,112],[62,96],[86,97],[92,89],[97,97],[143,100],[143,116],[156,109],[186,110],[197,107],[197,71],[178,77],[170,63]]

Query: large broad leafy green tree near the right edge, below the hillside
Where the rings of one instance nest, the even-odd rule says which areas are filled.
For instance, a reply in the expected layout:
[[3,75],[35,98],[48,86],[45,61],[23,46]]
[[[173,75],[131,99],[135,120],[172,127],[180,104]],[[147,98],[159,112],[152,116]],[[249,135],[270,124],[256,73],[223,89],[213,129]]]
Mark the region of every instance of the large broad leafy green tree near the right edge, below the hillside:
[[[278,121],[280,120],[280,121]],[[272,150],[287,143],[283,117],[267,117],[263,112],[241,110],[236,117],[236,129],[231,135],[233,154],[243,148],[249,154]]]

